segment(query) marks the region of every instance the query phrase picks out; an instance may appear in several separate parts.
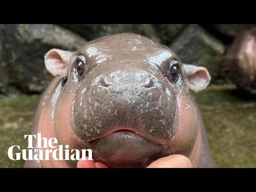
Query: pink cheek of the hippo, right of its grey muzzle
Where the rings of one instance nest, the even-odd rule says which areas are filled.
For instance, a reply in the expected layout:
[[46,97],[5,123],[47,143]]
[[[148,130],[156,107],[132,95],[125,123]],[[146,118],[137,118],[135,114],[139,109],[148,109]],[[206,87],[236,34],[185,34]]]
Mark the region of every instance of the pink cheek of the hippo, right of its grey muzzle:
[[179,125],[173,140],[173,148],[178,154],[189,156],[198,135],[198,110],[190,96],[178,96]]

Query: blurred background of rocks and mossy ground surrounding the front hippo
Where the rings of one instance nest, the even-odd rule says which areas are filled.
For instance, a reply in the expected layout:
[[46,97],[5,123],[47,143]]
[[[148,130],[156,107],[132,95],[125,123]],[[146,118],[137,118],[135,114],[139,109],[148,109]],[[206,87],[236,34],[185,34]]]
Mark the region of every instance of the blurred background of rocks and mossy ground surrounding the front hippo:
[[30,134],[38,98],[52,79],[44,66],[44,54],[51,48],[74,51],[90,40],[121,32],[146,36],[170,47],[182,62],[206,67],[211,84],[193,95],[204,119],[212,156],[218,167],[256,167],[254,27],[0,24],[0,167],[24,164],[23,160],[10,160],[7,150],[12,145],[22,149],[27,145],[24,134]]

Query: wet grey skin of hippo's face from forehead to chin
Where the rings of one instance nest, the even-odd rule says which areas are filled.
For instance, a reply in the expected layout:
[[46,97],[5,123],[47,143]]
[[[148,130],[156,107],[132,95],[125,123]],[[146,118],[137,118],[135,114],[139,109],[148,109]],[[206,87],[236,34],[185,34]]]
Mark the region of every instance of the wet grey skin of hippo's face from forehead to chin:
[[[85,56],[88,68],[74,98],[71,123],[94,158],[127,165],[170,154],[166,143],[177,131],[176,94],[182,82],[170,81],[166,69],[178,57],[131,34],[101,38],[74,55]],[[115,132],[119,129],[124,131]]]

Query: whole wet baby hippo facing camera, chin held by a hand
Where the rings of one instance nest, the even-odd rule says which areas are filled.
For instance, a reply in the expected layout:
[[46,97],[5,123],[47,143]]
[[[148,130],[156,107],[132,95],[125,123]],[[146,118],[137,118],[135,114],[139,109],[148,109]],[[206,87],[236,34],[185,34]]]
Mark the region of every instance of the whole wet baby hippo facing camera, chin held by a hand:
[[[52,49],[45,65],[56,77],[42,94],[33,134],[90,148],[94,161],[109,167],[146,167],[170,154],[187,156],[194,167],[215,166],[189,91],[208,86],[206,68],[182,64],[168,47],[131,33],[76,52]],[[76,165],[52,159],[25,167]]]

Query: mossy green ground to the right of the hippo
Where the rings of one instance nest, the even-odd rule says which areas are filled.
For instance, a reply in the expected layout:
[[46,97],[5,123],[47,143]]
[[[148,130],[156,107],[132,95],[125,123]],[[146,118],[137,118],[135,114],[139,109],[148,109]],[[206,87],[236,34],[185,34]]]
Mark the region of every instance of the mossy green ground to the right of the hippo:
[[218,167],[256,166],[256,97],[234,88],[194,93]]

